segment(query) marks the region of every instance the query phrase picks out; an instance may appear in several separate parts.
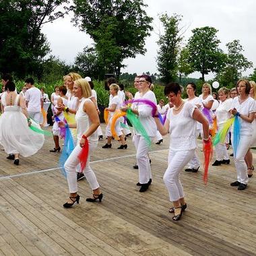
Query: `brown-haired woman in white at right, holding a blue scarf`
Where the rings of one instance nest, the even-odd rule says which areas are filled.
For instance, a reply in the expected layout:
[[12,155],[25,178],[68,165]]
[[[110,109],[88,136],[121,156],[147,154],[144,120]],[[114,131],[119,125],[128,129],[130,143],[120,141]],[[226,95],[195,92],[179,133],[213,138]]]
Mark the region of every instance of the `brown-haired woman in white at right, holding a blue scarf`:
[[[234,152],[234,165],[236,166],[237,181],[230,183],[230,186],[238,187],[238,190],[244,190],[247,188],[248,183],[245,155],[251,146],[253,138],[253,120],[256,112],[256,104],[255,100],[249,96],[251,85],[247,79],[238,80],[236,83],[236,90],[239,96],[232,101],[230,113],[238,116],[241,129],[237,152]],[[234,145],[234,134],[231,135],[231,139],[232,145]]]

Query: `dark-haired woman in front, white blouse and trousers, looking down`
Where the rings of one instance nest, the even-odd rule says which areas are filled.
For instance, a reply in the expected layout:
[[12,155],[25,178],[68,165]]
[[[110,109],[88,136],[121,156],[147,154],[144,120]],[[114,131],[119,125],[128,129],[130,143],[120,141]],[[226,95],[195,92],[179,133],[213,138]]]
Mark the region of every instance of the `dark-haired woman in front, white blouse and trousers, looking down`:
[[158,131],[162,135],[170,133],[168,167],[164,173],[164,183],[168,189],[170,201],[173,203],[169,212],[174,213],[172,220],[177,221],[181,219],[182,213],[187,207],[179,174],[195,154],[197,121],[203,125],[205,143],[210,143],[209,123],[195,104],[183,101],[179,84],[167,84],[164,94],[174,104],[174,107],[168,110],[164,126],[157,117],[155,117],[155,121]]

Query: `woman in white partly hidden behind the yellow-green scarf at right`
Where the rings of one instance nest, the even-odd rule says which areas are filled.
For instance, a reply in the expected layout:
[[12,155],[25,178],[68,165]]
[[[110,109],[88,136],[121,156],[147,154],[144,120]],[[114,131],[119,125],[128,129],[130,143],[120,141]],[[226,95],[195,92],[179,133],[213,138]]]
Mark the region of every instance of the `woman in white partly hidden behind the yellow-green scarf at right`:
[[[223,128],[224,123],[226,123],[226,121],[231,117],[229,110],[231,109],[233,100],[232,98],[228,98],[229,90],[227,88],[220,88],[220,90],[218,91],[218,95],[220,99],[220,104],[218,108],[216,108],[215,115],[217,119],[218,131],[220,131]],[[228,150],[226,148],[226,145],[228,145],[228,143],[229,134],[227,133],[224,143],[220,142],[215,146],[216,161],[212,164],[212,166],[219,166],[220,164],[230,163]]]

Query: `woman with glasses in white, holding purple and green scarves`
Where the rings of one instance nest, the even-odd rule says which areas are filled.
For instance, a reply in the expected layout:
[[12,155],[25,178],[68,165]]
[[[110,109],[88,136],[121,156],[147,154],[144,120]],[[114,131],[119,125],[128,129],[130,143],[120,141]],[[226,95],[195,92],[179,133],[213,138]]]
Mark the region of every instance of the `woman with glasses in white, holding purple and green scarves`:
[[[150,90],[151,84],[152,79],[149,75],[140,75],[138,86],[139,94],[136,95],[136,98],[151,100],[156,104],[156,96],[154,92]],[[121,108],[121,110],[127,111],[128,108],[128,106],[125,106]],[[152,117],[152,107],[146,104],[137,104],[137,108],[131,108],[131,110],[135,115],[138,116],[141,125],[143,125],[152,141],[154,137],[156,137],[156,123]],[[146,141],[146,139],[141,135],[141,133],[136,131],[136,129],[134,129],[134,144],[137,151],[137,165],[139,167],[139,183],[137,183],[137,185],[141,186],[139,192],[145,192],[148,190],[148,187],[152,182],[150,158],[148,157],[150,145],[148,144],[148,141]]]

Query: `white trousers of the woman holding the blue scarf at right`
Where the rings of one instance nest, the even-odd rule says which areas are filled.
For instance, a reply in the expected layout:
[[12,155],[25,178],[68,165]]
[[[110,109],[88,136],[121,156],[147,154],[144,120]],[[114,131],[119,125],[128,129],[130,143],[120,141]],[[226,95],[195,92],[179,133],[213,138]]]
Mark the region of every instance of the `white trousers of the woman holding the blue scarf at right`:
[[[234,145],[233,134],[231,135],[231,139],[232,145]],[[234,156],[234,166],[236,166],[237,181],[243,184],[247,184],[249,180],[247,174],[247,165],[245,163],[245,155],[251,146],[251,139],[252,135],[241,135],[236,156]]]

